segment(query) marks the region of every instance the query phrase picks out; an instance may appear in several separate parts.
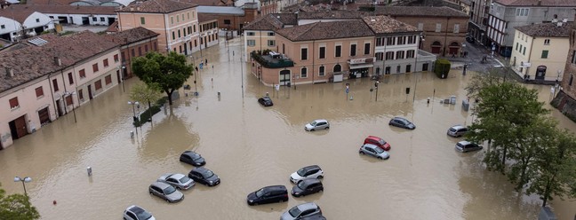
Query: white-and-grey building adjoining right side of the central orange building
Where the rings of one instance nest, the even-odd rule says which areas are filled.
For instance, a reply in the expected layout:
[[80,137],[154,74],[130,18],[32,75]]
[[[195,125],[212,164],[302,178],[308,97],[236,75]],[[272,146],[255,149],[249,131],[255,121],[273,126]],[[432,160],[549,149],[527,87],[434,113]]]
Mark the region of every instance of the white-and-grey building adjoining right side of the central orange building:
[[436,56],[420,51],[422,31],[388,16],[368,16],[364,22],[376,37],[374,75],[429,71]]

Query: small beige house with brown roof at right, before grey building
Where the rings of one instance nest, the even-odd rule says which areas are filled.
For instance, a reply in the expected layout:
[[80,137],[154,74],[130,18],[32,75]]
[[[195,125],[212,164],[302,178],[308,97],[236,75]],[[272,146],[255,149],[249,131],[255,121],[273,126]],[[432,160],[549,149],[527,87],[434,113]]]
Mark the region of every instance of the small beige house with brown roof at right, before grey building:
[[516,27],[510,66],[525,80],[561,81],[570,49],[566,23]]

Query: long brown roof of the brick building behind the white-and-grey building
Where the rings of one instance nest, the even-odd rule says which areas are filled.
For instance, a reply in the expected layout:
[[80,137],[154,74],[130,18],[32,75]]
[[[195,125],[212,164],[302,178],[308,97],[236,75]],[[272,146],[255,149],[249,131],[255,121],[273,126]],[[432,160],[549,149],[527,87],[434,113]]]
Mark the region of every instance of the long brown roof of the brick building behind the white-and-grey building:
[[397,17],[469,17],[465,12],[460,12],[446,6],[376,6],[375,14]]

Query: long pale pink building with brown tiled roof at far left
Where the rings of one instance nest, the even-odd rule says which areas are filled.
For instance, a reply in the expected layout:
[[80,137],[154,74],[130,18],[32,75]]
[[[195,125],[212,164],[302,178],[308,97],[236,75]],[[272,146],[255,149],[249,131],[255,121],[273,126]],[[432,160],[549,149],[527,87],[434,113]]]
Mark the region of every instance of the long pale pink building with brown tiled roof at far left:
[[[41,35],[0,51],[0,148],[121,82],[116,43],[90,31]],[[34,92],[33,92],[34,91]]]

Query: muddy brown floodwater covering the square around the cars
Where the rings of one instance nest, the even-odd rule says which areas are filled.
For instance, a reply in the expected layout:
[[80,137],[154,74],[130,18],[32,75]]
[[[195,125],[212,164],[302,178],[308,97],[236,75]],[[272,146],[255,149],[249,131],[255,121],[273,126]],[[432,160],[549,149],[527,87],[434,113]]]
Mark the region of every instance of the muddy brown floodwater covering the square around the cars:
[[[452,70],[446,80],[429,73],[391,75],[380,83],[377,102],[369,79],[346,82],[353,98],[347,97],[344,83],[276,92],[246,71],[242,76],[239,43],[236,39],[230,47],[236,56],[224,43],[203,51],[213,69],[197,75],[199,96],[187,97],[180,90],[172,108],[154,115],[153,123],[133,139],[132,106],[126,102],[138,79],[126,82],[126,92],[118,87],[78,108],[77,123],[68,114],[17,140],[0,151],[4,189],[22,193],[13,177],[32,177],[28,195],[42,219],[59,220],[122,219],[124,208],[132,204],[157,219],[277,219],[307,201],[316,202],[328,219],[536,218],[537,196],[515,193],[506,177],[484,169],[484,151],[456,153],[460,139],[445,135],[453,124],[473,120],[460,105],[471,74]],[[193,81],[188,82],[191,91]],[[416,96],[406,95],[406,87]],[[528,87],[540,90],[542,101],[551,98],[548,86]],[[257,103],[266,92],[275,106]],[[451,95],[458,97],[457,105],[440,104]],[[552,114],[561,127],[576,130],[563,115]],[[393,116],[412,120],[417,129],[389,127]],[[304,124],[317,118],[329,120],[330,130],[304,131]],[[392,145],[388,161],[358,154],[368,135]],[[196,185],[176,204],[150,196],[148,185],[160,175],[192,169],[178,160],[189,149],[206,158],[205,167],[221,177],[221,184]],[[324,169],[324,193],[246,205],[246,195],[262,186],[292,187],[289,175],[311,164]],[[92,177],[86,174],[89,166]],[[556,199],[551,206],[560,219],[572,219],[576,210],[575,201]]]

